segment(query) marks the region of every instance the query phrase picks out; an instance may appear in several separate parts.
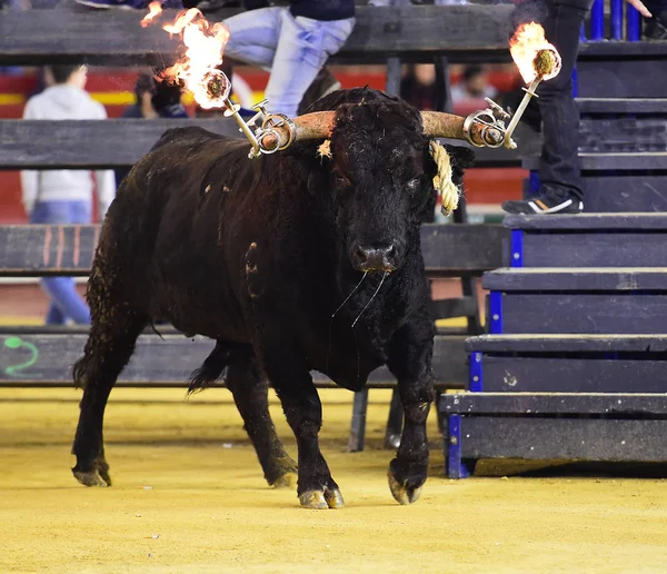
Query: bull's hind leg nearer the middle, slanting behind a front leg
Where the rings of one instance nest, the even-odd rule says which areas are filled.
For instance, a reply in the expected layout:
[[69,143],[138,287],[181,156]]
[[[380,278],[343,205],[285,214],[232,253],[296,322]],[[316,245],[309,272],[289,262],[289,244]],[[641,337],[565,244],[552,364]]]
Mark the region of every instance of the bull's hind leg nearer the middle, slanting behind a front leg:
[[269,414],[268,383],[253,355],[241,356],[229,366],[227,386],[233,394],[265,478],[276,488],[293,488],[297,485],[297,463],[287,454],[276,434]]

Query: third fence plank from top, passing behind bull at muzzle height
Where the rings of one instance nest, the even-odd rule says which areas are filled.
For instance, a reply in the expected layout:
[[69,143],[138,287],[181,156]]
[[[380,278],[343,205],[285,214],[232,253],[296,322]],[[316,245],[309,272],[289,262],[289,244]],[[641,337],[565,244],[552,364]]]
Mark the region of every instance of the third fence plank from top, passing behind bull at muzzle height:
[[[87,276],[98,237],[94,225],[0,226],[0,277]],[[500,267],[506,237],[508,230],[494,224],[424,225],[427,270],[441,277]]]

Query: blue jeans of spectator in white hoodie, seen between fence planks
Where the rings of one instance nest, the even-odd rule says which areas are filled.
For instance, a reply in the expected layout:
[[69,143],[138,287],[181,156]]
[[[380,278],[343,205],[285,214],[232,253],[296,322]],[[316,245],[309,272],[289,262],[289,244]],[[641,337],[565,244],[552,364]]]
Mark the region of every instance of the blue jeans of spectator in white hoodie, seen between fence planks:
[[[90,201],[38,201],[30,214],[31,224],[90,224]],[[44,277],[40,285],[51,299],[47,325],[63,325],[70,318],[78,325],[90,324],[90,309],[71,277]]]

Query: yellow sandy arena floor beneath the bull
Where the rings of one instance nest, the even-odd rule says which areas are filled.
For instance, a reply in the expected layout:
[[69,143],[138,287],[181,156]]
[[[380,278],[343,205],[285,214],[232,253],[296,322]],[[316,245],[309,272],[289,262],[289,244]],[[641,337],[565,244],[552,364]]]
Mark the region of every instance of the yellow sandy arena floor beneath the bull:
[[667,481],[449,481],[431,416],[429,481],[399,506],[378,448],[388,392],[371,392],[368,449],[348,454],[351,395],[327,390],[322,446],[347,507],[308,511],[267,487],[227,390],[183,395],[115,390],[115,486],[91,489],[69,471],[79,392],[0,389],[0,572],[667,571]]

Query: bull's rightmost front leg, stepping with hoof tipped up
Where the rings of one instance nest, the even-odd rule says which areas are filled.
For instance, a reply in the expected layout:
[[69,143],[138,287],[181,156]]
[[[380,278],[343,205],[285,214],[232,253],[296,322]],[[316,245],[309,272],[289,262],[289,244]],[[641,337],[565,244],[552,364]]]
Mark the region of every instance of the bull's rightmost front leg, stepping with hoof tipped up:
[[428,472],[426,419],[434,402],[431,358],[434,326],[424,308],[389,344],[387,366],[398,380],[405,424],[396,458],[389,465],[389,488],[400,504],[419,498]]

